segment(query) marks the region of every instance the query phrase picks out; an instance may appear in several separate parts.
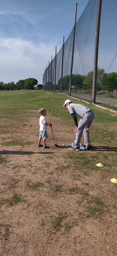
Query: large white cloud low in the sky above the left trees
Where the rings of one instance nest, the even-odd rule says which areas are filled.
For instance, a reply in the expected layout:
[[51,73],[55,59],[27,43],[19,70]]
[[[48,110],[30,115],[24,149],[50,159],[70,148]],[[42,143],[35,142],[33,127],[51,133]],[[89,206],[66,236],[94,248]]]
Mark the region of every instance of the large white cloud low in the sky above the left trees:
[[0,81],[34,77],[42,83],[46,64],[54,54],[55,42],[34,44],[18,38],[0,38]]

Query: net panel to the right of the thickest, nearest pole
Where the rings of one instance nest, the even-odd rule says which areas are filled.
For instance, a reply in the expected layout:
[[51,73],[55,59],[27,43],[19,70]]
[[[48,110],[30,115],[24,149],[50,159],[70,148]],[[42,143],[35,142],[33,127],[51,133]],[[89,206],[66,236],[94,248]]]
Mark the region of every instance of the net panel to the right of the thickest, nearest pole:
[[[102,0],[98,66],[105,68],[105,71],[109,73],[117,72],[116,53],[117,0]],[[116,58],[113,62],[114,56]]]

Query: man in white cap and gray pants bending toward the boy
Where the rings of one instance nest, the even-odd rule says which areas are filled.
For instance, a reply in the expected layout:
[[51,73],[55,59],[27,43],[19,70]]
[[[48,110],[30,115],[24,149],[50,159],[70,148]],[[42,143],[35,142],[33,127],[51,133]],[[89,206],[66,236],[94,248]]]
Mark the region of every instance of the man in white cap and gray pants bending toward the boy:
[[[75,145],[73,147],[69,147],[69,149],[70,150],[78,150],[78,151],[80,150],[80,141],[81,141],[82,133],[84,133],[85,145],[88,150],[91,150],[92,146],[90,144],[89,128],[94,119],[94,115],[95,115],[94,112],[92,111],[91,108],[89,108],[87,106],[72,103],[72,101],[70,99],[65,100],[65,103],[63,106],[68,108],[68,110],[69,110],[70,114],[72,115],[74,122],[76,124]],[[81,117],[79,123],[77,122],[76,115]]]

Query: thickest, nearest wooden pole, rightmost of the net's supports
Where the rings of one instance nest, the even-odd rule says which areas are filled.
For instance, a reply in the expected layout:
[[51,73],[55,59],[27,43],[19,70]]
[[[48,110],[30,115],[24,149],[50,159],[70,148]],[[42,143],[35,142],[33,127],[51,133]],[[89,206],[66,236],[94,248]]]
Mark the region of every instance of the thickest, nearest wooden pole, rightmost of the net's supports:
[[93,93],[92,93],[92,102],[93,103],[96,103],[96,82],[97,82],[97,65],[98,65],[101,6],[102,6],[102,0],[99,0],[98,14],[97,14],[97,27],[96,27],[95,57],[94,57],[94,76],[93,76]]

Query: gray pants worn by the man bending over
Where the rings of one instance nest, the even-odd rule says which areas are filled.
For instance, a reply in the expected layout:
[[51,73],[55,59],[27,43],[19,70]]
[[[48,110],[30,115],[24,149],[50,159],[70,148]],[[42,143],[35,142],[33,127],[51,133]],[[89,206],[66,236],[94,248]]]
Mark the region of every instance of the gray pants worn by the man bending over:
[[89,113],[86,113],[79,121],[78,123],[78,128],[76,132],[76,141],[75,144],[76,146],[80,146],[80,141],[82,134],[84,133],[84,140],[85,140],[85,145],[90,146],[90,134],[89,134],[89,128],[92,124],[92,121],[94,119],[94,112],[91,111]]

